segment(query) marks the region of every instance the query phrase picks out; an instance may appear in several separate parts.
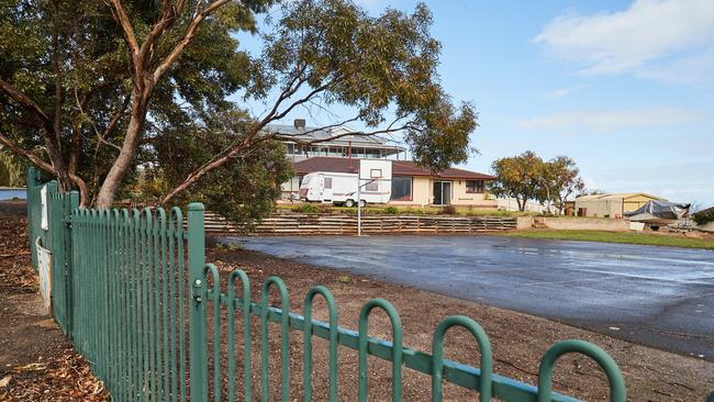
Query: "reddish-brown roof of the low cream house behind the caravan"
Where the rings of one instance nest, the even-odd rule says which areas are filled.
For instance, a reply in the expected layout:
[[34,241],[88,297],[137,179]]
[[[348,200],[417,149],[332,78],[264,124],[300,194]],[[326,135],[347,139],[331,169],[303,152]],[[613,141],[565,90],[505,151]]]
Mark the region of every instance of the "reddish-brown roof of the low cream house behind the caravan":
[[[295,172],[306,175],[313,171],[334,171],[341,174],[356,174],[359,159],[335,158],[315,156],[294,163]],[[392,176],[434,176],[444,179],[461,180],[495,180],[495,176],[479,174],[477,171],[448,168],[438,174],[433,174],[428,168],[416,165],[410,160],[392,160]]]

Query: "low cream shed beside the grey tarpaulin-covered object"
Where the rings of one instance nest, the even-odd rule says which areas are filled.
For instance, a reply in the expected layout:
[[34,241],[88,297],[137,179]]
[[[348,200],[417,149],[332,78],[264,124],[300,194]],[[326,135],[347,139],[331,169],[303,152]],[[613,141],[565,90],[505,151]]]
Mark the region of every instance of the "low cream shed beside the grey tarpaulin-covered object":
[[580,196],[574,201],[578,216],[623,217],[625,212],[636,211],[648,201],[667,201],[644,192]]

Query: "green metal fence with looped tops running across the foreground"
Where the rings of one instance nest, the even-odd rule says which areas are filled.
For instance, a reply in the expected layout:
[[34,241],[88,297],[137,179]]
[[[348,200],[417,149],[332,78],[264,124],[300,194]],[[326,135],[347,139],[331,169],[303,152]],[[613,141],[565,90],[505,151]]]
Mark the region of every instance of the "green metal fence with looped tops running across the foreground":
[[[288,290],[277,277],[263,283],[259,302],[253,301],[248,277],[242,270],[227,276],[223,292],[219,270],[205,264],[201,204],[188,206],[185,232],[183,216],[177,208],[168,213],[161,209],[78,209],[77,194],[57,193],[56,183],[51,181],[47,183],[48,230],[42,230],[36,222],[42,215],[42,206],[37,205],[42,201],[41,186],[33,170],[27,177],[30,236],[41,237],[53,253],[55,317],[114,400],[203,402],[212,395],[214,401],[222,398],[293,401],[298,395],[291,394],[289,334],[294,331],[302,332],[304,401],[313,400],[315,337],[328,342],[326,369],[331,401],[344,400],[341,389],[355,386],[358,400],[367,400],[368,356],[391,364],[392,401],[402,400],[404,368],[431,376],[433,401],[443,400],[444,381],[478,391],[480,401],[574,401],[550,391],[554,365],[568,353],[594,359],[610,382],[610,400],[626,400],[623,376],[615,361],[587,342],[566,340],[553,346],[542,359],[538,387],[535,387],[492,372],[489,338],[478,323],[466,316],[444,319],[433,334],[432,351],[427,354],[402,345],[399,313],[382,299],[371,300],[361,308],[355,332],[338,325],[336,301],[321,286],[309,290],[302,314],[290,311]],[[269,303],[271,289],[279,293],[279,306]],[[328,322],[312,319],[312,305],[317,297],[327,305]],[[370,313],[375,310],[382,310],[389,316],[391,342],[368,335]],[[237,334],[236,317],[243,323]],[[259,319],[259,334],[253,333],[252,317]],[[271,322],[280,327],[279,373],[270,372]],[[481,356],[479,368],[444,358],[444,336],[454,326],[465,327],[473,335]],[[260,339],[259,391],[253,384],[252,358],[252,342],[257,336]],[[236,338],[243,339],[239,346],[243,361],[236,361]],[[212,345],[211,356],[209,345]],[[357,384],[338,383],[338,355],[345,348],[357,350]],[[280,376],[279,383],[270,381],[276,375]]]

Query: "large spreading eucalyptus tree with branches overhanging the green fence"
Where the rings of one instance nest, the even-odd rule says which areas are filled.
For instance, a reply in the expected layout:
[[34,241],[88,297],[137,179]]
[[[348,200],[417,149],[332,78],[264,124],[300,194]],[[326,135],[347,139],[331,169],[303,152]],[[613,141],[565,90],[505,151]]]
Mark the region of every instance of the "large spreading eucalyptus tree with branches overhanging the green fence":
[[[138,164],[181,165],[161,197],[170,203],[234,164],[275,157],[264,150],[286,136],[269,124],[315,104],[355,111],[325,127],[403,133],[435,170],[468,157],[476,113],[439,83],[440,46],[423,4],[371,16],[348,0],[287,1],[256,57],[237,34],[257,33],[270,0],[0,4],[0,143],[64,190],[78,188],[85,205],[111,205]],[[235,93],[238,103],[227,100]],[[230,132],[210,122],[222,114],[235,119]],[[216,136],[200,164],[159,152],[199,135]]]

